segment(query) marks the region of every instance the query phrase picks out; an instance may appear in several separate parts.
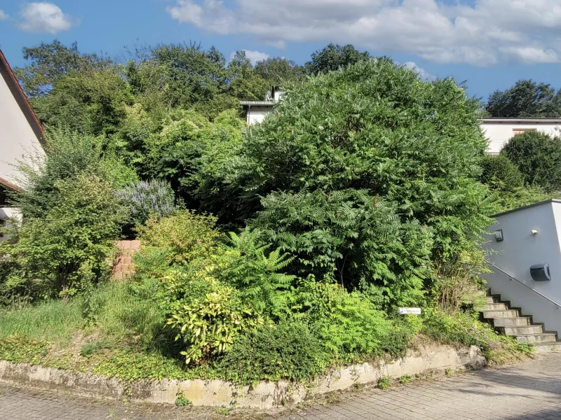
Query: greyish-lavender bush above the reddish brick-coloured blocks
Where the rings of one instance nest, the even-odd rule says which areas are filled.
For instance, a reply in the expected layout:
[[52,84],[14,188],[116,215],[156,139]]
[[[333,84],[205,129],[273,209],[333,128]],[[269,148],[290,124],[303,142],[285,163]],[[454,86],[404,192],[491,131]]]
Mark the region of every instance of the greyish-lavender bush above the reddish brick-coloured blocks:
[[134,226],[144,225],[151,216],[162,218],[177,212],[175,195],[165,181],[137,181],[120,190],[119,197],[128,208],[129,221]]

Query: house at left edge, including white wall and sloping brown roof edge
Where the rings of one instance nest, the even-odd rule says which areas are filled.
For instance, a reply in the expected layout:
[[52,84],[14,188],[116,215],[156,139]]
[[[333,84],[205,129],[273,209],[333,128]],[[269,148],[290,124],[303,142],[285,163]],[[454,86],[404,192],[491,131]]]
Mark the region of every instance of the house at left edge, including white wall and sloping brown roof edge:
[[4,225],[9,218],[19,217],[18,209],[10,207],[7,197],[10,191],[21,188],[15,165],[26,156],[42,158],[45,139],[41,124],[1,50],[0,76],[0,224]]

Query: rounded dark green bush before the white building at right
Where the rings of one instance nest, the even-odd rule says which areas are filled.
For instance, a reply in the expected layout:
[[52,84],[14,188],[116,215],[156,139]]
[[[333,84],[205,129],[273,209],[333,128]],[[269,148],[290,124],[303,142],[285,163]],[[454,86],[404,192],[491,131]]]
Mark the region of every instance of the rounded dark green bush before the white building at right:
[[540,131],[517,134],[501,150],[518,167],[527,186],[561,190],[561,139]]

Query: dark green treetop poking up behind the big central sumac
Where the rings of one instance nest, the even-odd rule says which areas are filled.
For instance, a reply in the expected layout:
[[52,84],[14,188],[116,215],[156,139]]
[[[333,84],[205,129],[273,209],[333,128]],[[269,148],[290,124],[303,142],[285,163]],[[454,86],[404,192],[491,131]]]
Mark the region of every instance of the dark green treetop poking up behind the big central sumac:
[[330,43],[323,50],[317,50],[311,55],[311,61],[306,63],[306,71],[314,76],[327,71],[334,71],[370,58],[368,51],[360,52],[353,45],[341,46]]

